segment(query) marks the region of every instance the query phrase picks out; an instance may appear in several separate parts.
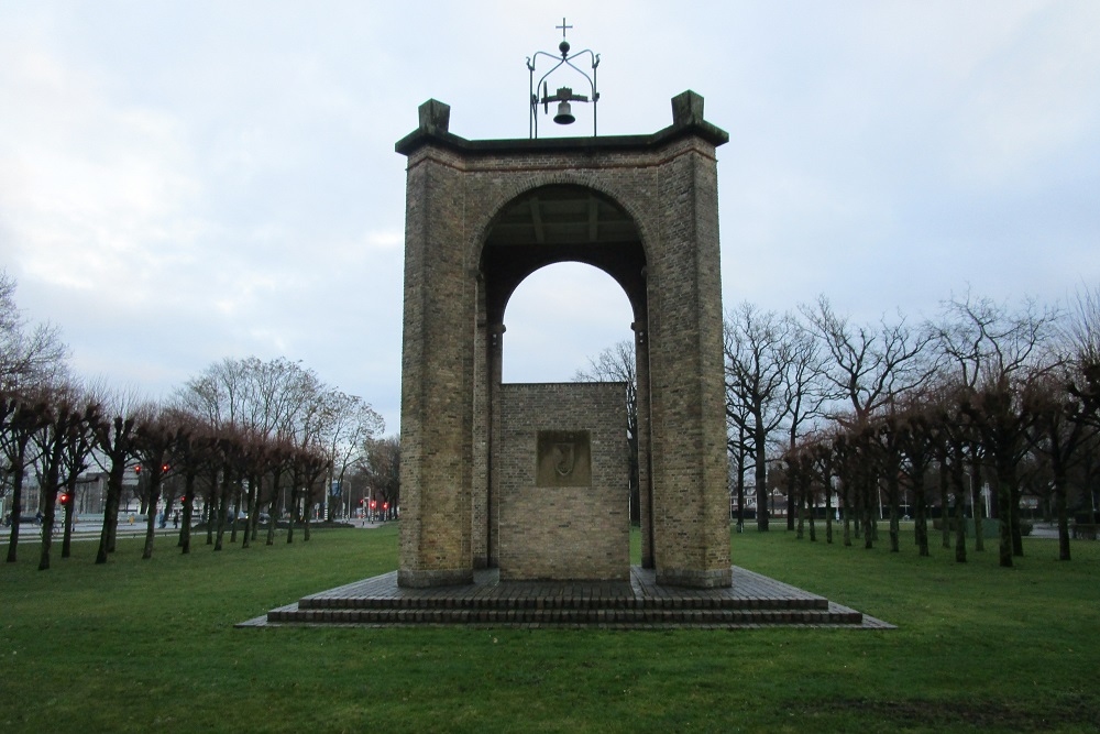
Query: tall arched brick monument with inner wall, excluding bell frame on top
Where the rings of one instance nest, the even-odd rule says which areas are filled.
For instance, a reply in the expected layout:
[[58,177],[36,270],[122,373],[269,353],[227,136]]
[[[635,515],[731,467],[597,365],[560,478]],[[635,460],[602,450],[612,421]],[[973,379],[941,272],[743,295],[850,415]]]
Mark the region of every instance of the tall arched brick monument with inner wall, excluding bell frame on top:
[[[703,98],[650,135],[471,141],[420,106],[408,157],[398,583],[629,574],[625,387],[505,385],[504,314],[557,262],[626,293],[642,566],[730,585],[715,149]],[[620,423],[618,423],[620,420]],[[619,428],[615,428],[619,426]]]

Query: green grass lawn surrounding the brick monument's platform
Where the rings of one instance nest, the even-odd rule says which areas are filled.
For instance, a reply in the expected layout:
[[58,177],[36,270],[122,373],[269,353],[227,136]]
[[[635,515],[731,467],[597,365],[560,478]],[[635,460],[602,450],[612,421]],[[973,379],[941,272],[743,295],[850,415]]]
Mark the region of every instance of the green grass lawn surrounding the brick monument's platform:
[[[233,624],[397,565],[397,528],[292,546],[95,543],[0,567],[2,732],[1100,730],[1100,543],[933,548],[733,535],[739,566],[888,632],[253,628]],[[938,535],[933,537],[938,544]],[[7,546],[0,544],[0,552]]]

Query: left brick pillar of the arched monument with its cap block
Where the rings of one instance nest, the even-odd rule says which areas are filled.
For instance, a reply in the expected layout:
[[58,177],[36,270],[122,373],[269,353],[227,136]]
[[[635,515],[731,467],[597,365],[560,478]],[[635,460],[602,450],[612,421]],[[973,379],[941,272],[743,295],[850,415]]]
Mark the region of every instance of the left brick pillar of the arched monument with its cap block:
[[[446,133],[449,108],[420,107]],[[402,357],[402,541],[398,583],[473,581],[471,472],[475,278],[462,244],[463,179],[446,151],[409,158]]]

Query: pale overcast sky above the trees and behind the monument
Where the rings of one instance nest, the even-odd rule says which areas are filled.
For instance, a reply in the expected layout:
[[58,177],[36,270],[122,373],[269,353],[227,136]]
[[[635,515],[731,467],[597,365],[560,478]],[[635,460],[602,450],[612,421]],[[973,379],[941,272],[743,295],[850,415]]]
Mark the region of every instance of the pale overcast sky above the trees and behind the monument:
[[[1100,283],[1093,0],[0,0],[0,267],[82,376],[160,397],[283,355],[394,431],[394,143],[429,98],[458,135],[526,138],[525,62],[562,15],[601,54],[601,134],[668,127],[685,89],[729,132],[727,308],[823,293],[920,318],[968,286],[1015,304]],[[505,379],[569,380],[630,320],[602,273],[540,271],[506,314]]]

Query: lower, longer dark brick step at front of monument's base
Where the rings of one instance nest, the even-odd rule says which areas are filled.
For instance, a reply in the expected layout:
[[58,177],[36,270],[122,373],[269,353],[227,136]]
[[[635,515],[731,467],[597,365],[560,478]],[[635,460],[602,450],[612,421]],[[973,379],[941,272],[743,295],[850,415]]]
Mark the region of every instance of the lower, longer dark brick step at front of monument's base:
[[508,625],[860,625],[853,610],[733,609],[300,609],[267,613],[273,624],[508,624]]

